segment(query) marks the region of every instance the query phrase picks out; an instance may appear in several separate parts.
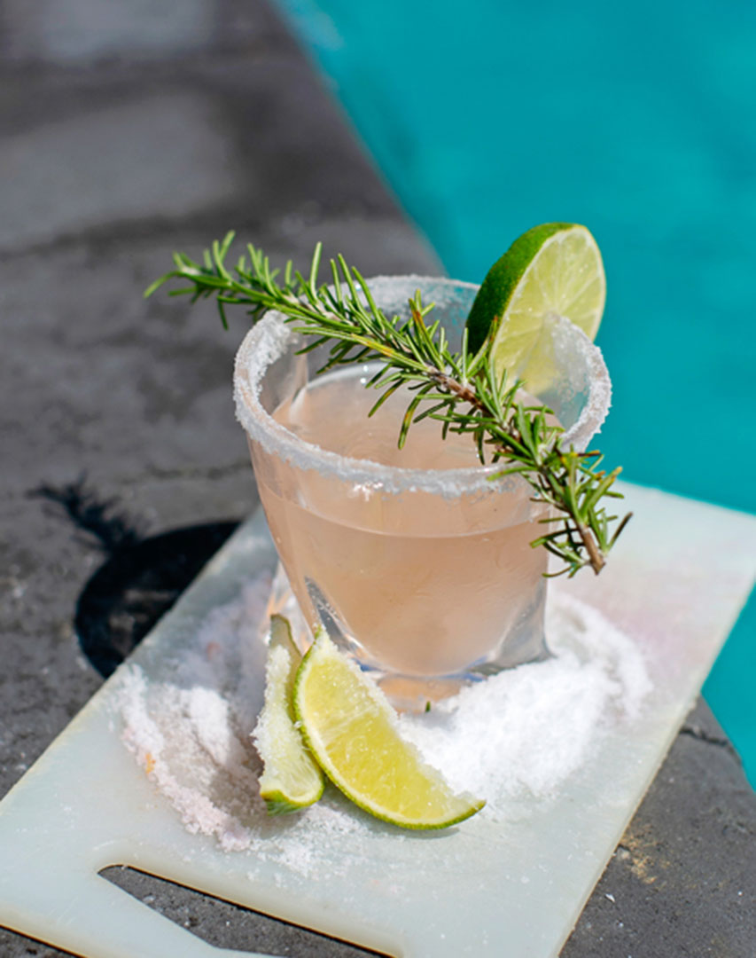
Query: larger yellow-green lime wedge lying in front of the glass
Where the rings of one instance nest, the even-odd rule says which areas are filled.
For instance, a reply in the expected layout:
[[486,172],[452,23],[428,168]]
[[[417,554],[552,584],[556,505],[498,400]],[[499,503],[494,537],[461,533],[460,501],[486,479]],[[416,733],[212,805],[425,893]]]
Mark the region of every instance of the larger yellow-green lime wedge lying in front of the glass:
[[443,829],[485,803],[456,795],[397,730],[384,694],[321,632],[304,656],[294,709],[329,779],[360,808],[409,829]]

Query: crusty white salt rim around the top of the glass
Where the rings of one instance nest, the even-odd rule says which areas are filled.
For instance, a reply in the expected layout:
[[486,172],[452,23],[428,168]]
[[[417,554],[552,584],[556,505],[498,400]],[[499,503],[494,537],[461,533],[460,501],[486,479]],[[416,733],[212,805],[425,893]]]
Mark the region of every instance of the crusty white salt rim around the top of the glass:
[[[436,308],[443,308],[443,289],[451,291],[478,290],[478,285],[434,276],[376,276],[367,280],[378,305],[392,314],[402,308],[418,288],[434,287],[442,292],[434,295]],[[577,422],[564,433],[561,445],[585,449],[590,438],[600,431],[611,405],[611,381],[601,350],[589,337],[568,319],[554,316],[554,343],[565,348],[571,340],[586,360],[589,381],[589,399]],[[409,469],[382,466],[368,459],[353,459],[339,455],[318,445],[307,443],[276,422],[260,403],[259,394],[268,367],[279,359],[295,337],[284,315],[271,310],[256,323],[244,337],[236,353],[233,368],[233,399],[236,419],[252,439],[266,452],[278,455],[300,469],[317,469],[323,476],[341,479],[353,485],[367,486],[389,493],[430,492],[444,498],[456,498],[463,493],[492,490],[491,476],[499,466],[457,469]],[[520,476],[497,480],[496,490],[520,488]]]

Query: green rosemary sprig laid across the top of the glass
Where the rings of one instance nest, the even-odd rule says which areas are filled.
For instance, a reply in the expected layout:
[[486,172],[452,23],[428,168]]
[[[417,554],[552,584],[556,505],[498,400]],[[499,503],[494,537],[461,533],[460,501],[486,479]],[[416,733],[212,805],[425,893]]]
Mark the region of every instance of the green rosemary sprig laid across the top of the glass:
[[174,253],[175,268],[150,285],[145,297],[168,280],[183,281],[169,295],[188,294],[192,303],[214,297],[226,328],[228,306],[246,307],[253,321],[277,309],[296,331],[313,337],[302,352],[330,343],[319,372],[380,360],[380,369],[367,382],[380,393],[370,415],[400,386],[413,394],[399,430],[400,447],[412,422],[426,418],[441,422],[444,436],[450,431],[470,433],[481,463],[504,466],[492,478],[519,474],[532,488],[534,501],[552,507],[552,514],[541,520],[548,531],[531,545],[544,546],[564,561],[554,575],[571,577],[587,565],[596,574],[601,571],[632,514],[611,531],[618,517],[607,513],[604,502],[622,498],[611,488],[621,470],[599,469],[602,456],[597,451],[562,449],[564,430],[549,421],[551,410],[518,399],[521,381],[497,378],[489,350],[494,330],[476,354],[469,351],[465,332],[461,350],[454,353],[440,321],[426,322],[434,307],[422,303],[419,291],[410,300],[410,319],[403,321],[378,308],[366,281],[343,256],[330,261],[333,284],[318,285],[321,243],[305,277],[291,262],[282,273],[272,269],[268,257],[252,245],[229,269],[233,237],[229,233],[222,242],[214,241],[201,263]]

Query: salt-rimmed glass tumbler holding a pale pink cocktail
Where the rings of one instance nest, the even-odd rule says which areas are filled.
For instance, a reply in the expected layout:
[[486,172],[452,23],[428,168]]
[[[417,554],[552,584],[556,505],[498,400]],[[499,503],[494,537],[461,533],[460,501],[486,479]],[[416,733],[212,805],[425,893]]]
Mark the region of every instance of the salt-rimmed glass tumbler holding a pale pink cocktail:
[[[407,316],[419,289],[458,349],[476,285],[416,276],[368,282],[389,315]],[[414,706],[460,681],[545,658],[547,555],[529,544],[543,534],[544,505],[531,501],[522,478],[492,479],[500,466],[396,468],[298,438],[272,414],[305,388],[327,347],[298,354],[305,340],[283,320],[269,312],[245,337],[234,396],[310,632],[324,624],[389,695]],[[557,316],[546,321],[538,351],[549,370],[539,398],[564,425],[563,445],[583,450],[610,404],[601,353]]]

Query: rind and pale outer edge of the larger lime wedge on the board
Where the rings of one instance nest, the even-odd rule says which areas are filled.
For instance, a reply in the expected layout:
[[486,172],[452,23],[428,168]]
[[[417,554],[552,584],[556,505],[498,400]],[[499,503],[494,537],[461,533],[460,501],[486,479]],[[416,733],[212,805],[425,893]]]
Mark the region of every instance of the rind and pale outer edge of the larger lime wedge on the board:
[[391,717],[390,721],[392,724],[395,721],[395,714],[393,713],[386,696],[384,696],[377,687],[373,686],[364,673],[361,673],[354,663],[350,662],[345,656],[342,655],[342,653],[336,650],[336,647],[333,645],[327,635],[324,633],[319,635],[302,659],[300,670],[297,673],[293,696],[294,710],[297,719],[299,720],[302,738],[306,742],[311,753],[315,756],[318,764],[320,764],[322,771],[325,773],[327,778],[345,795],[346,798],[353,802],[358,808],[366,811],[368,814],[380,819],[381,821],[389,823],[390,825],[396,825],[400,828],[423,832],[450,828],[454,825],[457,825],[459,822],[463,822],[467,818],[470,818],[484,807],[485,801],[477,799],[468,793],[452,795],[442,776],[436,772],[435,769],[425,764],[414,747],[408,742],[404,741],[402,742],[402,747],[411,749],[411,751],[416,754],[418,766],[421,767],[426,774],[433,778],[434,782],[437,783],[439,790],[443,789],[449,795],[450,805],[453,806],[452,813],[436,821],[429,821],[427,819],[424,821],[418,821],[386,810],[378,804],[371,804],[359,795],[356,795],[353,789],[349,786],[348,782],[345,781],[344,776],[338,772],[334,764],[330,761],[324,742],[318,735],[314,734],[313,730],[309,727],[306,719],[305,709],[302,706],[302,690],[306,681],[307,673],[312,667],[314,661],[322,654],[340,656],[345,663],[345,666],[352,670],[360,682],[366,684],[367,688],[369,689],[370,698],[372,698],[372,700],[378,704],[379,708],[386,714],[387,718],[389,716]]

